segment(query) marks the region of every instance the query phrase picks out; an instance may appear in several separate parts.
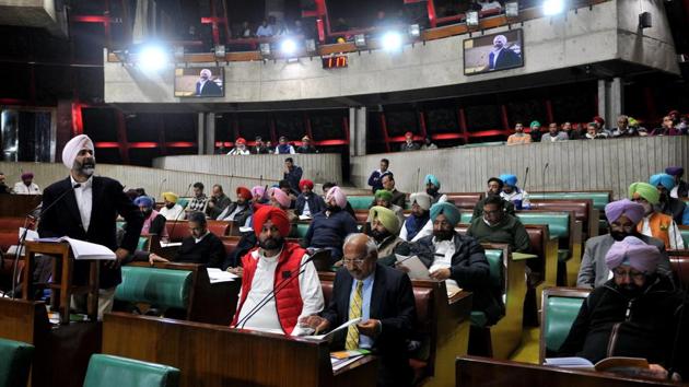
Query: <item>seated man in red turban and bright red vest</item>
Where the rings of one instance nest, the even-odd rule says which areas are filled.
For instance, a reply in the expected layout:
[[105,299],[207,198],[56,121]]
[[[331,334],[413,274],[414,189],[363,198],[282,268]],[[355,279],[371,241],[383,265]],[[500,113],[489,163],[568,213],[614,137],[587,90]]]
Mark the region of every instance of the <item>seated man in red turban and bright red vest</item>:
[[[237,312],[232,326],[300,335],[296,321],[323,310],[324,300],[318,273],[299,244],[285,242],[290,222],[284,211],[265,206],[254,213],[258,247],[242,258],[244,272]],[[273,290],[275,297],[269,294]],[[256,308],[261,301],[269,300]],[[255,314],[252,314],[254,309]],[[296,329],[295,329],[296,327]]]

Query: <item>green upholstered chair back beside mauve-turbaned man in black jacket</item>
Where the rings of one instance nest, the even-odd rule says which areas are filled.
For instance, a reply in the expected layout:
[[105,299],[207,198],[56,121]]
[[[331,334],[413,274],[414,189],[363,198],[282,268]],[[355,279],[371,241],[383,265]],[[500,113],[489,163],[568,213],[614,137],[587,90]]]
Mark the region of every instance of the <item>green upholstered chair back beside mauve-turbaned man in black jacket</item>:
[[544,290],[540,321],[540,363],[554,354],[572,328],[584,300],[591,291],[576,288]]

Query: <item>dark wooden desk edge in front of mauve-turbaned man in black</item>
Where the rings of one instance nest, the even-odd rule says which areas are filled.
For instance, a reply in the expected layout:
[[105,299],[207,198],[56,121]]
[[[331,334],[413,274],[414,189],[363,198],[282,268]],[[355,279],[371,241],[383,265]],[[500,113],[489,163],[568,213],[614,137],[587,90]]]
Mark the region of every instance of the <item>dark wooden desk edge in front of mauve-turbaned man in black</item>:
[[687,386],[645,379],[631,379],[607,373],[574,371],[542,365],[499,361],[488,357],[457,357],[455,363],[459,387],[641,387]]

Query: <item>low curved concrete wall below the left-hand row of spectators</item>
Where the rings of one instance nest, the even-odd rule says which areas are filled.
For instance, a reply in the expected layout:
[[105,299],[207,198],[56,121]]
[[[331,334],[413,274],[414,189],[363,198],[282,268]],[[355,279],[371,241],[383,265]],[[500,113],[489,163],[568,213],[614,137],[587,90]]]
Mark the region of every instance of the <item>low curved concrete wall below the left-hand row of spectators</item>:
[[[256,154],[250,156],[165,156],[153,160],[153,167],[161,169],[187,171],[234,175],[238,178],[253,178],[278,181],[284,172],[288,155]],[[342,181],[341,156],[336,153],[292,154],[294,163],[304,171],[303,178],[314,183]]]

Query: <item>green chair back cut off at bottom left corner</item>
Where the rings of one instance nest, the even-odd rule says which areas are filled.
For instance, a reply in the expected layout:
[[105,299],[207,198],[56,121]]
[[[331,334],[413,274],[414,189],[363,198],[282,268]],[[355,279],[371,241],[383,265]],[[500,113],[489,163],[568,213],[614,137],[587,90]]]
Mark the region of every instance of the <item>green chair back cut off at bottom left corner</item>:
[[34,345],[0,339],[0,387],[24,387],[28,380]]

